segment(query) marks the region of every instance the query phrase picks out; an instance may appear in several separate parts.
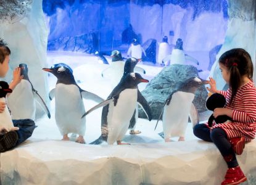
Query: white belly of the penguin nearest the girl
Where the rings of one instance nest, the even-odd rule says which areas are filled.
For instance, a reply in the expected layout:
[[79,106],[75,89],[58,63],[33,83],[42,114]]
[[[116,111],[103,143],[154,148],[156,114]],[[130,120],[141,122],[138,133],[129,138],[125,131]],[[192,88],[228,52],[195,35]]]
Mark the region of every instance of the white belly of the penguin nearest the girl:
[[193,93],[178,91],[171,97],[170,104],[165,105],[163,108],[165,139],[172,136],[184,136],[193,99]]

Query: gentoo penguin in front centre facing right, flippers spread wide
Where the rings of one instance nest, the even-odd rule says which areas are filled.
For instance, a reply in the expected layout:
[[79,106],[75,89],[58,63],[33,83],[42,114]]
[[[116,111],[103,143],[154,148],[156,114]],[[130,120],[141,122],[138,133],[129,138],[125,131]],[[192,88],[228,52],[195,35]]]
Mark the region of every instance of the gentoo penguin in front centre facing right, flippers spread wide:
[[[85,113],[103,107],[101,115],[101,136],[91,144],[101,144],[106,141],[108,144],[122,144],[122,139],[128,130],[131,117],[133,116],[136,102],[146,108],[147,117],[152,119],[151,109],[146,100],[138,91],[138,84],[149,82],[139,75],[139,73],[130,73],[123,78],[120,83],[110,93],[106,101],[96,105]],[[84,115],[84,116],[85,116]]]

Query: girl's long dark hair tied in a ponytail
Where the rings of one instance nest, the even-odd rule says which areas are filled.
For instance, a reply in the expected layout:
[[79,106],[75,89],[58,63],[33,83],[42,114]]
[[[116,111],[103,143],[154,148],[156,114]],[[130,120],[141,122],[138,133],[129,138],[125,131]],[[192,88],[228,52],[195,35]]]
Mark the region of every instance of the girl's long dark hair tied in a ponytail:
[[252,64],[250,54],[241,48],[226,51],[221,55],[219,62],[228,69],[230,74],[229,88],[231,89],[231,99],[229,100],[229,105],[231,105],[239,86],[242,84],[242,76],[246,75],[252,80],[254,65]]

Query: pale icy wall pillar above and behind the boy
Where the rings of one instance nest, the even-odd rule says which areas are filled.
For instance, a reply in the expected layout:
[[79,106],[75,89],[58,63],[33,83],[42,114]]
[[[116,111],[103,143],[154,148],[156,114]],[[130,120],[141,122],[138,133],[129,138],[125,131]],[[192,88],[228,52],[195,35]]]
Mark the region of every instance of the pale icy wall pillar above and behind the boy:
[[[0,1],[0,38],[11,50],[10,70],[4,80],[12,80],[12,70],[20,63],[28,65],[31,83],[49,104],[46,73],[47,28],[42,0]],[[38,114],[41,113],[38,109]]]

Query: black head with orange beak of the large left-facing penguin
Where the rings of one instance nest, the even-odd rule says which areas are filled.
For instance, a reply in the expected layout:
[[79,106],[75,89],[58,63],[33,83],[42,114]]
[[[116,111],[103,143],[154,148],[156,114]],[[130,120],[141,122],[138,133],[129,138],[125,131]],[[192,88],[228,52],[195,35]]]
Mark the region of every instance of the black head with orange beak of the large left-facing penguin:
[[67,64],[54,64],[51,68],[43,68],[43,70],[56,76],[60,83],[70,84],[75,81],[73,70]]

